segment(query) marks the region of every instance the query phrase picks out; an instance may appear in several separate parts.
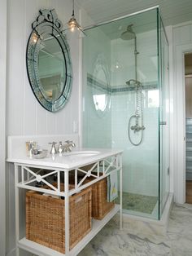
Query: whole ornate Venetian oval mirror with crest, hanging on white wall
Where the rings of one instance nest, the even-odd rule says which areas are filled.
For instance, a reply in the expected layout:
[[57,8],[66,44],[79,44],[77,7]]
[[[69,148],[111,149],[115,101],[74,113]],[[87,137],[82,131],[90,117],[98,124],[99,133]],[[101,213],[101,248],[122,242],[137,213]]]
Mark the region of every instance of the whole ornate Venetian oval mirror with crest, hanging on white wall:
[[72,87],[72,61],[63,25],[55,10],[40,10],[28,38],[28,79],[38,102],[50,112],[67,103]]

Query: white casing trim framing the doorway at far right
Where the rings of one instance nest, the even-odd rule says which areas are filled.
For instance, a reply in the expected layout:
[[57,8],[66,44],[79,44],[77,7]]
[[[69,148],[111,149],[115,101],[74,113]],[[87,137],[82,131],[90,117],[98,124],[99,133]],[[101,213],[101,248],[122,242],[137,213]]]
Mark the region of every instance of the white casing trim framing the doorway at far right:
[[175,139],[176,157],[174,162],[174,190],[175,201],[177,203],[185,203],[185,64],[184,55],[192,51],[192,43],[176,46],[176,66],[175,66],[175,85],[177,94],[175,95]]

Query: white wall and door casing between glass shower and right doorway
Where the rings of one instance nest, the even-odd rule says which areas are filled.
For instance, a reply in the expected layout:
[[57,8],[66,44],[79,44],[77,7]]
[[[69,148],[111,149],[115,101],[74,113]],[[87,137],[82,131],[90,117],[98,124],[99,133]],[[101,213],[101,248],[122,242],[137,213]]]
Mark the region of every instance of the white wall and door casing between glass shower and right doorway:
[[168,29],[171,55],[171,188],[175,201],[185,202],[185,79],[184,53],[192,51],[192,21]]

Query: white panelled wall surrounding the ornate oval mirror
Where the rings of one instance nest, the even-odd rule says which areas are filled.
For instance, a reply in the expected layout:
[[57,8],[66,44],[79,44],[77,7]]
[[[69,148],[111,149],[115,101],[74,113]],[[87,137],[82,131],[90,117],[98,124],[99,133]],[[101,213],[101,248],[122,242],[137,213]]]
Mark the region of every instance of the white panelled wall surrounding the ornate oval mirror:
[[[25,61],[28,37],[32,31],[31,24],[36,20],[39,9],[45,8],[55,8],[59,20],[65,25],[72,15],[70,0],[7,0],[7,135],[71,134],[73,121],[76,121],[77,125],[79,123],[80,41],[76,34],[68,33],[73,69],[72,94],[68,104],[59,113],[49,113],[37,102],[28,82]],[[78,19],[77,8],[76,18]],[[14,173],[13,166],[7,165],[8,255],[14,255],[14,218]]]

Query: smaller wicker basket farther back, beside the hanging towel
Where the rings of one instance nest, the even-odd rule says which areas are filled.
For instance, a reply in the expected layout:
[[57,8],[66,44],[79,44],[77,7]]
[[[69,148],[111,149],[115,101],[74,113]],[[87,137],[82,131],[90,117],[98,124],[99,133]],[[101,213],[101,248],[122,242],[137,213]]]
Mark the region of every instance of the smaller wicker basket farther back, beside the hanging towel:
[[[87,178],[85,182],[93,179]],[[107,201],[107,178],[99,180],[90,187],[92,188],[92,217],[102,219],[115,206],[114,201]]]

